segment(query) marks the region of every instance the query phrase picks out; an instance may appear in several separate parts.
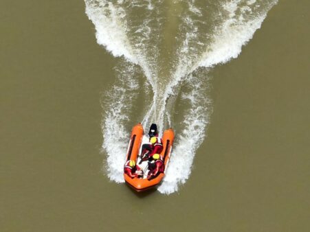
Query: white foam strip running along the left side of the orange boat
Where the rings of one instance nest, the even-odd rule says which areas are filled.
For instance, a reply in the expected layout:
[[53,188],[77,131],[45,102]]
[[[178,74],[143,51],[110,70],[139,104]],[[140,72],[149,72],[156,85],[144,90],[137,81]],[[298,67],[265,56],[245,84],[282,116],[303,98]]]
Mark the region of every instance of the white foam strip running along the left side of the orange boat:
[[125,124],[130,121],[129,114],[136,97],[135,91],[139,89],[135,79],[135,65],[126,62],[125,64],[115,69],[115,85],[104,94],[102,101],[102,108],[105,110],[102,121],[102,148],[108,154],[104,170],[107,170],[109,178],[117,183],[124,182],[123,167],[127,148],[124,141],[130,136]]

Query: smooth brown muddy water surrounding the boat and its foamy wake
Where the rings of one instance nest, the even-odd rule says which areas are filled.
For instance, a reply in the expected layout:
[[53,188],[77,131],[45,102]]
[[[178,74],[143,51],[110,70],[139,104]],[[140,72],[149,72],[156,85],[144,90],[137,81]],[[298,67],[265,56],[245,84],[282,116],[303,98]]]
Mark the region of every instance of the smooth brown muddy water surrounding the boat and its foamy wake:
[[[162,14],[175,16],[154,25],[162,36],[149,41],[162,49],[159,61],[148,60],[159,67],[153,78],[175,70],[171,60],[182,44],[175,35],[186,29],[179,28],[186,9],[179,2],[165,1]],[[209,12],[222,3],[206,2]],[[123,61],[96,43],[85,2],[2,0],[0,231],[309,231],[309,8],[306,0],[278,1],[238,58],[208,69],[211,109],[192,165],[184,161],[190,176],[171,194],[136,194],[104,170],[101,125],[109,105],[101,103]],[[148,108],[152,97],[139,94],[136,104]],[[180,112],[190,106],[175,102],[170,126],[178,137]],[[127,133],[148,112],[132,111]],[[150,119],[161,117],[169,124],[160,114]]]

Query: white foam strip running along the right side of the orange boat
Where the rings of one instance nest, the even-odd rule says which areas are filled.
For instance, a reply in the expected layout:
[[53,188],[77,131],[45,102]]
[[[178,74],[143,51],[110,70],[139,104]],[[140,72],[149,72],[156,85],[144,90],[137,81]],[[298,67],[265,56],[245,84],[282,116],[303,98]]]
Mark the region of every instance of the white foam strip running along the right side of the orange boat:
[[164,181],[158,187],[159,192],[163,194],[176,192],[179,184],[186,182],[190,176],[196,150],[205,138],[205,129],[209,123],[212,106],[206,95],[208,82],[206,78],[201,77],[204,74],[196,72],[195,75],[188,75],[186,79],[186,82],[191,83],[188,84],[190,91],[183,93],[181,99],[184,103],[187,102],[190,108],[184,115],[184,125],[182,125],[184,129],[177,135]]

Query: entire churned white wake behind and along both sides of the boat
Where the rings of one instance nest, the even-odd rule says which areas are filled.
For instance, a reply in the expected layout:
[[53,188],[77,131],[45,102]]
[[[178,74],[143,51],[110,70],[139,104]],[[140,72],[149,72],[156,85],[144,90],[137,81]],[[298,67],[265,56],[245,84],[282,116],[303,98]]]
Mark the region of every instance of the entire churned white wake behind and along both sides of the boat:
[[[171,194],[190,176],[197,148],[206,136],[212,104],[206,94],[208,69],[228,62],[258,30],[276,0],[175,1],[184,8],[175,15],[178,45],[168,62],[161,62],[159,46],[169,23],[164,1],[85,0],[86,13],[96,27],[100,45],[120,59],[115,67],[115,85],[104,94],[102,148],[107,153],[104,169],[117,183],[124,182],[123,165],[131,131],[126,124],[142,121],[144,128],[155,122],[159,130],[179,124],[172,120],[177,95],[189,108],[182,115],[170,163],[159,192]],[[214,5],[212,12],[208,4]],[[201,6],[203,5],[203,7]],[[173,7],[173,6],[172,6]],[[176,7],[177,8],[177,7]],[[137,12],[139,14],[137,14]],[[168,67],[168,72],[161,72]],[[203,71],[198,71],[203,67]],[[137,73],[142,70],[141,86]],[[187,86],[186,93],[180,93]],[[153,99],[141,119],[131,119],[133,102],[141,89],[152,89]],[[133,126],[133,125],[132,125]]]

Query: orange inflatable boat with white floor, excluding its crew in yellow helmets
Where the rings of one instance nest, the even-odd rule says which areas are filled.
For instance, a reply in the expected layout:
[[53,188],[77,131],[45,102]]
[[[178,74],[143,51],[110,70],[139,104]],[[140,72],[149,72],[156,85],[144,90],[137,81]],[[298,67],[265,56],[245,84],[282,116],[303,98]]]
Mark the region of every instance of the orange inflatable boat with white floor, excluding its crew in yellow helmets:
[[150,144],[149,141],[150,137],[153,136],[152,133],[154,135],[157,134],[156,124],[152,124],[148,135],[144,135],[144,129],[141,124],[135,125],[131,132],[131,139],[129,141],[129,147],[127,150],[126,162],[124,167],[126,167],[126,163],[134,161],[135,163],[137,163],[137,165],[141,167],[142,171],[140,171],[140,174],[142,174],[140,176],[135,176],[131,178],[128,174],[124,172],[124,180],[137,192],[141,192],[158,185],[162,181],[162,178],[164,178],[168,167],[170,153],[173,146],[173,140],[175,139],[175,133],[172,129],[165,130],[162,136],[163,149],[162,152],[160,152],[160,156],[161,160],[164,163],[164,172],[160,172],[154,178],[148,178],[148,172],[151,172],[151,163],[149,160],[142,162],[142,146],[144,144]]

